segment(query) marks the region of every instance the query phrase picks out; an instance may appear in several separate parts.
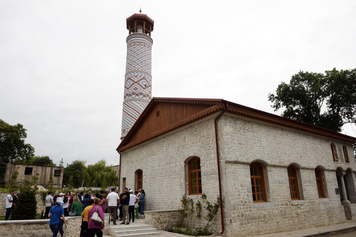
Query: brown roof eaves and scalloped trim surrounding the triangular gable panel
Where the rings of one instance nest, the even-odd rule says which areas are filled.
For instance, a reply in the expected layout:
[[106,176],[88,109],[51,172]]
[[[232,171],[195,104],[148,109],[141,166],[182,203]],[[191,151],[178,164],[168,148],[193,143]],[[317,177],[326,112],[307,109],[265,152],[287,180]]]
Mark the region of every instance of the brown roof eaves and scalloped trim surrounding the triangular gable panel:
[[[150,134],[142,134],[142,136],[133,138],[133,134],[140,127],[145,118],[151,113],[151,108],[155,107],[159,103],[185,103],[185,104],[196,104],[196,105],[205,105],[204,109],[196,112],[194,114],[187,114],[187,117],[179,120],[178,122],[174,122],[169,124],[168,126],[153,131]],[[162,134],[168,133],[174,129],[180,128],[186,124],[192,123],[196,120],[204,118],[210,114],[216,113],[218,111],[223,111],[226,107],[226,103],[228,103],[227,112],[241,115],[248,118],[253,118],[257,120],[262,120],[268,123],[273,123],[281,126],[285,126],[292,129],[297,129],[301,131],[305,131],[308,133],[326,136],[336,140],[342,140],[351,144],[356,143],[356,138],[347,136],[341,133],[337,133],[335,131],[331,131],[329,129],[321,128],[315,125],[303,123],[297,120],[285,118],[282,116],[278,116],[275,114],[263,112],[257,109],[253,109],[247,106],[243,106],[241,104],[236,104],[233,102],[225,101],[224,99],[197,99],[197,98],[158,98],[153,97],[151,102],[147,105],[145,110],[142,112],[141,116],[137,119],[136,123],[133,124],[129,133],[122,139],[120,145],[117,147],[117,151],[124,151],[129,149],[130,147],[141,144],[142,142],[148,141],[152,138],[160,136]],[[208,106],[208,108],[206,108]]]

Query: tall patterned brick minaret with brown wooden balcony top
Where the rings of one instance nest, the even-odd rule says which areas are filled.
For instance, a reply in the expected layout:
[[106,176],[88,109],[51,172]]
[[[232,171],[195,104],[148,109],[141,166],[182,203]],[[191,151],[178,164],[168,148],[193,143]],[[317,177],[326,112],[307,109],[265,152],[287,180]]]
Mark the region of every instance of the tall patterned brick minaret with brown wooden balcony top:
[[121,140],[151,101],[151,32],[155,22],[146,14],[135,13],[126,18],[126,72],[122,105]]

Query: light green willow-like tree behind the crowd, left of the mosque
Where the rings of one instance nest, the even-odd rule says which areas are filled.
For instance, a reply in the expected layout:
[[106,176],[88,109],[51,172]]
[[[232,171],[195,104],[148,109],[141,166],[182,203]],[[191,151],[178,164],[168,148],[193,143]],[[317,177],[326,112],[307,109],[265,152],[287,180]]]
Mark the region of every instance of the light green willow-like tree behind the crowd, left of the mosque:
[[88,187],[106,188],[119,183],[119,176],[116,175],[115,169],[112,166],[107,166],[104,159],[94,165],[89,165],[87,171],[89,177],[86,186]]

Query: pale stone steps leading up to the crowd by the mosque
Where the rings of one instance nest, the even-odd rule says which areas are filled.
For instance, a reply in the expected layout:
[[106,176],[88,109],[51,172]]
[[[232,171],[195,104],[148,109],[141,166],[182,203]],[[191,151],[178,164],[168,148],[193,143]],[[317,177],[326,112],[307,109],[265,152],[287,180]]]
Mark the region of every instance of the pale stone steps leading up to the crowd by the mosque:
[[151,237],[161,235],[152,225],[132,222],[130,225],[119,225],[119,223],[115,226],[109,226],[109,235],[114,237]]

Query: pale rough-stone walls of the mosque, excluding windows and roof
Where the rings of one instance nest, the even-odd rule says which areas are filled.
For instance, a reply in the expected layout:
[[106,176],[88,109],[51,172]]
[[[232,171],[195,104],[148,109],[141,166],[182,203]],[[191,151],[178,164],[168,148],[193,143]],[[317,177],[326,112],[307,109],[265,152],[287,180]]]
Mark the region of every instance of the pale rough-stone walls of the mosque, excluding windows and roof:
[[[126,178],[126,187],[136,189],[135,172],[143,171],[145,210],[180,208],[182,195],[188,195],[186,162],[192,156],[200,157],[203,193],[210,203],[215,202],[219,194],[215,117],[216,114],[122,152],[121,178]],[[345,145],[352,154],[351,144],[227,113],[218,122],[218,134],[225,198],[224,235],[262,235],[346,221],[340,195],[335,192],[338,187],[335,171],[338,167],[348,169],[355,176],[356,162],[352,157],[350,163],[334,162],[330,144],[333,142],[337,150],[341,147],[341,151]],[[264,166],[265,203],[253,203],[252,162]],[[290,198],[289,165],[298,169],[302,194],[298,201]],[[324,173],[326,198],[323,199],[317,193],[316,167]],[[350,190],[355,188],[349,187]],[[200,199],[200,196],[188,197]],[[197,225],[204,226],[204,220]],[[220,216],[212,230],[221,231]]]

